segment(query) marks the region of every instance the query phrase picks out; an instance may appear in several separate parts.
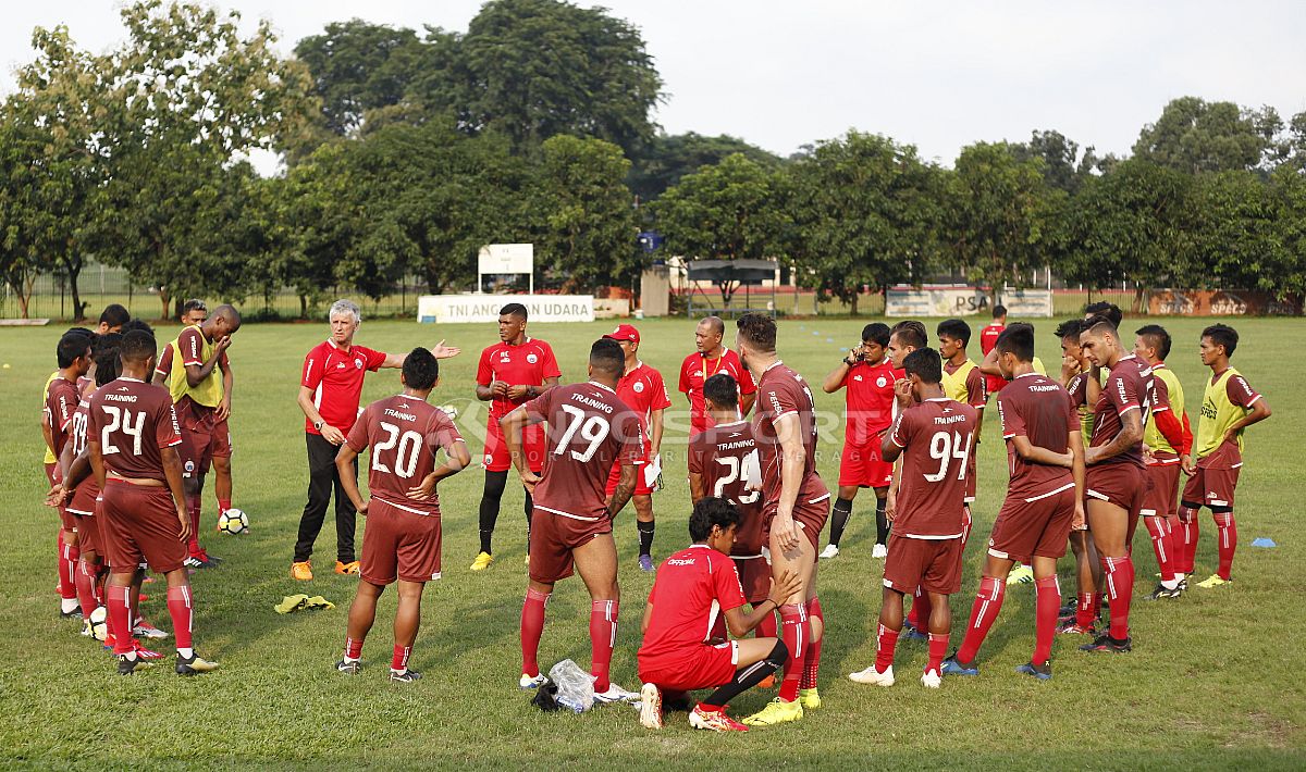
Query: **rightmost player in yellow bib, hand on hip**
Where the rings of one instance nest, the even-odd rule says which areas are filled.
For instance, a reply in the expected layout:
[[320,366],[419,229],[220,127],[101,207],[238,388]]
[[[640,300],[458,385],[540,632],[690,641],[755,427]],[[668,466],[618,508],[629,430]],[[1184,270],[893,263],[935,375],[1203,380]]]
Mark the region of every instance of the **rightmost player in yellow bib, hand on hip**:
[[1188,481],[1183,486],[1179,520],[1190,528],[1185,540],[1187,567],[1198,548],[1198,510],[1211,510],[1216,522],[1216,550],[1220,565],[1216,572],[1198,587],[1209,589],[1233,582],[1233,553],[1238,548],[1238,527],[1233,518],[1233,494],[1242,468],[1243,430],[1269,417],[1266,399],[1229,366],[1229,357],[1238,348],[1238,331],[1228,325],[1211,325],[1202,331],[1199,355],[1211,368],[1202,395],[1202,417],[1192,455],[1181,463]]

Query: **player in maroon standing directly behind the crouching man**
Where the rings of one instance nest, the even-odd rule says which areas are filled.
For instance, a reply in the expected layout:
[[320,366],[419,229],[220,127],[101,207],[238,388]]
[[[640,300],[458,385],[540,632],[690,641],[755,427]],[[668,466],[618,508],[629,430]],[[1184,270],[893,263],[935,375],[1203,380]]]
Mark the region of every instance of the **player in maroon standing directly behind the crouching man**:
[[[712,428],[690,438],[690,501],[696,505],[709,497],[724,498],[739,512],[730,556],[744,600],[757,608],[771,592],[771,562],[761,549],[761,492],[748,489],[750,479],[761,479],[757,441],[752,425],[739,415],[739,387],[729,373],[708,378],[703,399]],[[757,635],[776,636],[778,608],[757,622]]]

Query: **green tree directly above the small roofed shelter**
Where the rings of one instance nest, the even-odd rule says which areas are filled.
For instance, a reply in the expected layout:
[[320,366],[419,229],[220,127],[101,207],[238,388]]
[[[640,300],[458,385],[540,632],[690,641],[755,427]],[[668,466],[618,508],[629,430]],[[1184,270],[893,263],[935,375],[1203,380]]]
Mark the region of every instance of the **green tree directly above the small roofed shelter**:
[[[666,190],[653,205],[663,246],[671,254],[700,260],[782,257],[789,215],[781,202],[784,180],[748,160],[727,155]],[[721,282],[721,300],[730,305],[738,282]]]

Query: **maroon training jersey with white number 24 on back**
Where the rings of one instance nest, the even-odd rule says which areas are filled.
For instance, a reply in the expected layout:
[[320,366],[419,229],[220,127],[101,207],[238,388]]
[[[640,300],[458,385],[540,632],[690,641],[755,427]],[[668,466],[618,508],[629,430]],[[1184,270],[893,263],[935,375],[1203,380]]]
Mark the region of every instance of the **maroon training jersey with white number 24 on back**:
[[162,449],[182,443],[167,389],[123,377],[102,386],[89,402],[88,441],[99,443],[106,469],[166,482]]

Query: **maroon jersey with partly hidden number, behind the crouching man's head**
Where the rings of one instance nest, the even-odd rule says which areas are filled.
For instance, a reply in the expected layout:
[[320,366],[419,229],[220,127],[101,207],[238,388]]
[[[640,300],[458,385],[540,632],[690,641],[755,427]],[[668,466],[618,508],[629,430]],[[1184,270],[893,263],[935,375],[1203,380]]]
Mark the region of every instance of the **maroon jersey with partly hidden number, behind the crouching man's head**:
[[690,439],[690,473],[703,477],[708,496],[724,498],[739,510],[730,554],[747,558],[761,554],[761,492],[747,489],[754,464],[757,464],[757,441],[752,425],[743,419],[717,424]]

